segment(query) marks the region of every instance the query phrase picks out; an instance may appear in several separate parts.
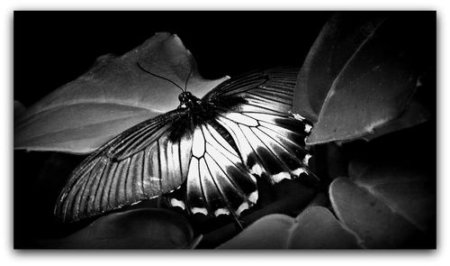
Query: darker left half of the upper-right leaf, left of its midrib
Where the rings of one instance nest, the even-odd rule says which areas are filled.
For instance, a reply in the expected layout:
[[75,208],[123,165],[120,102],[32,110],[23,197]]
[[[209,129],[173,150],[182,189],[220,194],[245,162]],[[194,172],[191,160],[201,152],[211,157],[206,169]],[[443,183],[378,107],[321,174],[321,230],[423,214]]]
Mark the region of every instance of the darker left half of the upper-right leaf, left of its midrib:
[[347,60],[383,23],[378,15],[353,17],[338,13],[329,19],[303,62],[294,93],[293,111],[316,123],[329,89]]

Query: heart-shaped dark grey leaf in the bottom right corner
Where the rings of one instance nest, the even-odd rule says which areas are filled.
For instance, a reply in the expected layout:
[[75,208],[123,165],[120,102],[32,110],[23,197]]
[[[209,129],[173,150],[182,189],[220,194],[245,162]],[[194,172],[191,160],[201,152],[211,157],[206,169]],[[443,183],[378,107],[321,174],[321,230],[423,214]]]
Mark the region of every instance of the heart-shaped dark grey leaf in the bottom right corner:
[[331,183],[329,196],[339,221],[355,232],[366,247],[404,248],[424,230],[420,223],[423,219],[411,213],[429,216],[425,208],[432,206],[432,194],[420,188],[424,183],[427,181],[420,177],[398,173],[376,173],[356,181],[339,178]]

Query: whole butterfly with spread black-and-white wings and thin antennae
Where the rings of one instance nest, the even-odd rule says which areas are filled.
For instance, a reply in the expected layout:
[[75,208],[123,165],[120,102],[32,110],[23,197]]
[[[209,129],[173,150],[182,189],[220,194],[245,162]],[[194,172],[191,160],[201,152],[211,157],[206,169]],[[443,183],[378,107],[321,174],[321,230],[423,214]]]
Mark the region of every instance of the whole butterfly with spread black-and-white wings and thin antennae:
[[297,75],[289,68],[254,71],[201,99],[157,76],[181,88],[180,105],[89,155],[60,193],[55,215],[75,222],[184,185],[184,199],[172,198],[173,206],[189,214],[240,216],[257,203],[257,178],[317,179],[305,144],[311,124],[291,113]]

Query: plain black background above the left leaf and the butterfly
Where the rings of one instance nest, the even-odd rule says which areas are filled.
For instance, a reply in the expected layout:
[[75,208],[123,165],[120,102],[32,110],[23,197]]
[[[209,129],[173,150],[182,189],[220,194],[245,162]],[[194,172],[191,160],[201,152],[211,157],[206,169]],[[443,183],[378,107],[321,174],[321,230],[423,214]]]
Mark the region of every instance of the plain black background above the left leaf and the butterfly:
[[14,99],[28,106],[106,53],[176,33],[204,78],[301,66],[329,12],[15,12]]

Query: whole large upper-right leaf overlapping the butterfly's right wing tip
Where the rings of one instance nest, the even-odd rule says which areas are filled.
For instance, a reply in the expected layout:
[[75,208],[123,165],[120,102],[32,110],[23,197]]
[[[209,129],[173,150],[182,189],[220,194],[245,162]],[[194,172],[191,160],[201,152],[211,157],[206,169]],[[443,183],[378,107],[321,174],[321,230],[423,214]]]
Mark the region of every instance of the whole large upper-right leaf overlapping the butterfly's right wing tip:
[[[384,16],[384,17],[383,17]],[[430,21],[429,18],[425,19]],[[314,42],[299,74],[293,112],[315,123],[309,144],[372,139],[423,122],[406,115],[422,57],[420,17],[340,13]],[[425,54],[425,55],[421,55]],[[423,116],[422,116],[423,118]]]

